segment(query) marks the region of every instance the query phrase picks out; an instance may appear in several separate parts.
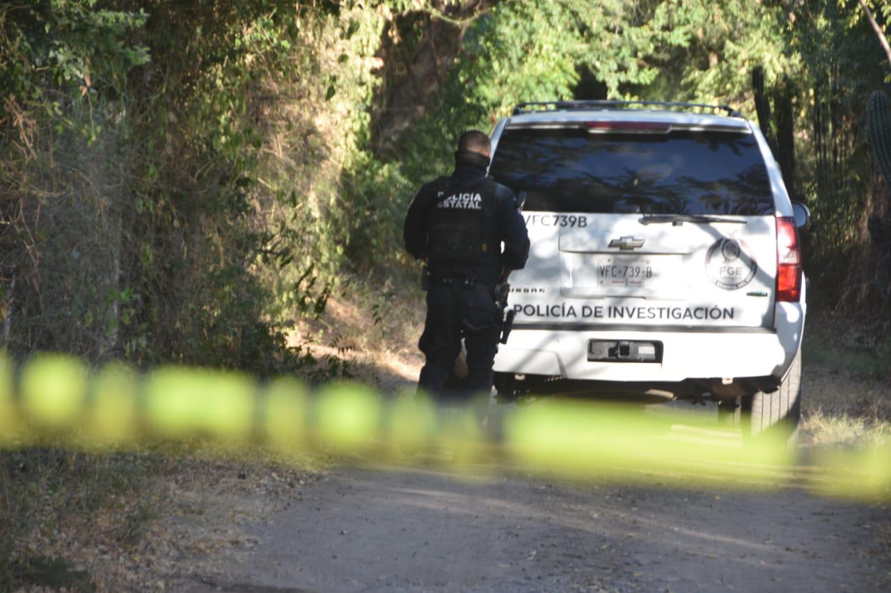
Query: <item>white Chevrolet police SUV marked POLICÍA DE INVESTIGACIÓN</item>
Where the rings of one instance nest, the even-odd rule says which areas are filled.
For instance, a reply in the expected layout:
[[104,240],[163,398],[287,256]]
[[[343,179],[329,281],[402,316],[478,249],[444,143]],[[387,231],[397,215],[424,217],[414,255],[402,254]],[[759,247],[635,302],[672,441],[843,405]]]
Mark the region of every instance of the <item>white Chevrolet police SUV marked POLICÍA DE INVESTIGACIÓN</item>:
[[810,213],[754,123],[691,103],[522,103],[492,142],[532,242],[500,400],[715,401],[744,435],[794,431]]

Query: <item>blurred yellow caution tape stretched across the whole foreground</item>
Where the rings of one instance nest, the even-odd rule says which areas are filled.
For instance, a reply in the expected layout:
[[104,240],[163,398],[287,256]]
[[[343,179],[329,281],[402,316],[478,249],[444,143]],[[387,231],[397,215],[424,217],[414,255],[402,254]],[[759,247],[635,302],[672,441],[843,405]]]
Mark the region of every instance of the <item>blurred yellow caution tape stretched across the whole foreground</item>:
[[29,361],[18,389],[14,378],[0,354],[0,448],[46,438],[115,448],[202,438],[226,448],[255,440],[283,452],[334,447],[413,459],[438,447],[470,463],[495,451],[520,467],[582,478],[805,484],[832,496],[891,497],[891,442],[818,450],[811,465],[797,467],[785,435],[767,431],[743,443],[739,431],[699,415],[552,398],[498,408],[486,418],[486,436],[478,405],[439,409],[421,395],[385,398],[354,383],[311,393],[292,378],[260,386],[241,373],[173,366],[140,376],[120,363],[91,375],[81,361],[56,354]]

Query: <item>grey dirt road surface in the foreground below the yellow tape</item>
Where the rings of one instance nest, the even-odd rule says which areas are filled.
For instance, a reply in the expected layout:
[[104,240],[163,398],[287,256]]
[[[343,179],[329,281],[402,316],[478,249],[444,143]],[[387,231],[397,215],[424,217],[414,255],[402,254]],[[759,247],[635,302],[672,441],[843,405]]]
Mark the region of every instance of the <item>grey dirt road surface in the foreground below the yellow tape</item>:
[[891,508],[804,491],[569,484],[518,471],[332,471],[250,530],[229,591],[879,591]]

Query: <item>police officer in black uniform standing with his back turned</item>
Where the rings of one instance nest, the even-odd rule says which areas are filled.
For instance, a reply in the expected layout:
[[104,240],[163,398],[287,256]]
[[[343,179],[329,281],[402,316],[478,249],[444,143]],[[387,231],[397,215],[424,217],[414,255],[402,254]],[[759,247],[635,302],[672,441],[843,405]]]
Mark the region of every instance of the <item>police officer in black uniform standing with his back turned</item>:
[[[454,173],[427,183],[405,215],[405,248],[427,260],[427,318],[419,347],[426,357],[419,390],[442,397],[467,349],[466,394],[488,394],[501,331],[495,286],[526,264],[529,238],[513,191],[486,176],[491,143],[461,136]],[[503,244],[503,249],[502,249]]]

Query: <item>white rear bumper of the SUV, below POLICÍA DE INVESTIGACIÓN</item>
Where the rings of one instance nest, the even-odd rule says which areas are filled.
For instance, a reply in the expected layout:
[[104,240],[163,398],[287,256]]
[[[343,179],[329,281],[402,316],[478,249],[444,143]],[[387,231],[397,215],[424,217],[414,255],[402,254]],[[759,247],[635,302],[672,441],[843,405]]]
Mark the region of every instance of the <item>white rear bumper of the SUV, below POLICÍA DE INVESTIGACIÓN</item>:
[[[495,371],[593,381],[680,382],[698,378],[785,377],[801,342],[804,307],[778,303],[773,328],[648,328],[553,326],[511,332],[495,356]],[[660,362],[587,360],[591,339],[658,341]]]

